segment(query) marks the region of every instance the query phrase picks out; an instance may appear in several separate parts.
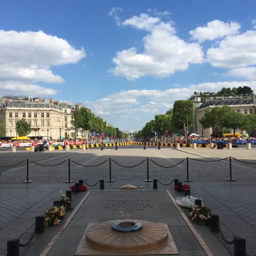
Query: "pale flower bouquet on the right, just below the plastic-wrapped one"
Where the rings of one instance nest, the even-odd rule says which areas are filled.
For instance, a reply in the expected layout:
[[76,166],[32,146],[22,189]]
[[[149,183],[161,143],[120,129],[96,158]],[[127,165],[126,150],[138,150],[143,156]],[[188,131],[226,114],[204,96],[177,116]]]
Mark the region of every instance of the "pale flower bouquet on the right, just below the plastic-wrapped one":
[[210,225],[211,210],[205,205],[202,205],[201,207],[196,205],[195,208],[189,212],[189,216],[191,220],[200,225]]

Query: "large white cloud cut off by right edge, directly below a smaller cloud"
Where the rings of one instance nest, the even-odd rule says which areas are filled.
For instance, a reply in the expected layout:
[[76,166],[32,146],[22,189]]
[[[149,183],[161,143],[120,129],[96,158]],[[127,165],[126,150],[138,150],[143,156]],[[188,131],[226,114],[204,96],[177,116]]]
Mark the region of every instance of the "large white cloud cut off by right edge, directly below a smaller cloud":
[[207,51],[211,66],[217,68],[244,68],[256,64],[256,31],[227,36],[217,47]]

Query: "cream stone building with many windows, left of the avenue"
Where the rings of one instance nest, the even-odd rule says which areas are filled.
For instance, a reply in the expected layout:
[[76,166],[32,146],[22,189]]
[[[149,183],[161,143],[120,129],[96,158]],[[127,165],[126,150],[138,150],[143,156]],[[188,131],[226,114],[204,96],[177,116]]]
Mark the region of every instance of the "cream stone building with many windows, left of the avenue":
[[[71,106],[68,106],[68,109]],[[65,109],[64,109],[65,110]],[[24,118],[31,125],[28,136],[52,137],[66,135],[65,111],[59,101],[45,98],[4,96],[0,99],[0,122],[6,133],[1,137],[16,137],[15,123]],[[68,113],[67,113],[68,114]],[[67,121],[67,129],[69,122]]]

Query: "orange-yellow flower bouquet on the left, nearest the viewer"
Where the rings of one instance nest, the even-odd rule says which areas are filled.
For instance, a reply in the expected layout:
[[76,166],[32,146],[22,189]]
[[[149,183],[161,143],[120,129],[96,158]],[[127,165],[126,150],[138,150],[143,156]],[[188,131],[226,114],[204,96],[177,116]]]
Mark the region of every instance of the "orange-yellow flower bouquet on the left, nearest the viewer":
[[45,226],[59,225],[61,219],[65,217],[65,206],[53,206],[44,213]]

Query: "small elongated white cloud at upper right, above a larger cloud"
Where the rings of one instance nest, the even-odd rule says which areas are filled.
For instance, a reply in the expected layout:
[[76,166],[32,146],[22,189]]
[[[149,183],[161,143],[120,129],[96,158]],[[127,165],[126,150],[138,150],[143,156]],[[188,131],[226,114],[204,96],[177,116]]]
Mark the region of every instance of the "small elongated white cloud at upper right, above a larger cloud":
[[208,22],[205,27],[198,27],[195,30],[190,30],[189,34],[192,39],[199,40],[214,40],[216,38],[224,37],[227,35],[234,35],[239,32],[240,25],[236,22],[224,23],[221,20],[212,20]]

